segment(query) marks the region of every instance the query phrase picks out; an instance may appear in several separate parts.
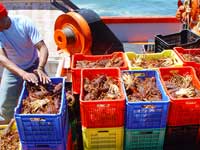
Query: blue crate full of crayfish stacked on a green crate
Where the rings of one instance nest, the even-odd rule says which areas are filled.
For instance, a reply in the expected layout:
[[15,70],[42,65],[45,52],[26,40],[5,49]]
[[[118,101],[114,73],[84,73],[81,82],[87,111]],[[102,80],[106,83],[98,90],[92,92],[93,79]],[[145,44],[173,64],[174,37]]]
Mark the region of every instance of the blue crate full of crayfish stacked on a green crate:
[[167,96],[156,70],[122,71],[127,129],[165,128]]

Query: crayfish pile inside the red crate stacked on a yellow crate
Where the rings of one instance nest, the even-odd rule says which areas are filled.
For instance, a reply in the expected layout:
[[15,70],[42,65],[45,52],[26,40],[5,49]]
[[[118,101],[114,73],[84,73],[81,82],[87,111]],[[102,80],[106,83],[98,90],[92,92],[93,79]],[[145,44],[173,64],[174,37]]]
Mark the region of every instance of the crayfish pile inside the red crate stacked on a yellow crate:
[[106,75],[97,75],[90,80],[84,78],[84,100],[106,100],[118,99],[121,97],[119,80]]

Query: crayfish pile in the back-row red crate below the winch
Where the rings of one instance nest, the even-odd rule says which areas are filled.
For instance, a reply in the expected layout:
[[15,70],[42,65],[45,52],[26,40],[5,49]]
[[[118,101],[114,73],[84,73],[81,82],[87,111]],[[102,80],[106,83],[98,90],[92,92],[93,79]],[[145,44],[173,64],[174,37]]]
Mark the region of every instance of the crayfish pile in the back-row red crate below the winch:
[[96,61],[81,60],[76,62],[76,68],[106,68],[121,67],[124,65],[122,58],[114,55],[111,59],[99,59]]

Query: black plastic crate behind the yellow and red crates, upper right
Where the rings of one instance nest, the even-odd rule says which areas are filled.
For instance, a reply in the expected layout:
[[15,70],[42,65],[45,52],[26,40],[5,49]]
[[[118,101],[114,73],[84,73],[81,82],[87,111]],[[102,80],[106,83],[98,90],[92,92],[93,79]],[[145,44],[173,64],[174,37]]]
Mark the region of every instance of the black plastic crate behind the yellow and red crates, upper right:
[[197,48],[200,47],[200,37],[190,30],[182,30],[169,35],[155,36],[155,50],[161,52],[174,47]]

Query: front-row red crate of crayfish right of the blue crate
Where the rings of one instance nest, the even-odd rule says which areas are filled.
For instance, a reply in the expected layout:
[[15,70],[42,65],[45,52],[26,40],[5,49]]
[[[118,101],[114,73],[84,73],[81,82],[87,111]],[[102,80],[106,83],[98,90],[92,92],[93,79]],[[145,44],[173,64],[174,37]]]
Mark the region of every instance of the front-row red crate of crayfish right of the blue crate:
[[200,81],[194,68],[160,68],[161,82],[170,98],[169,126],[200,124]]

